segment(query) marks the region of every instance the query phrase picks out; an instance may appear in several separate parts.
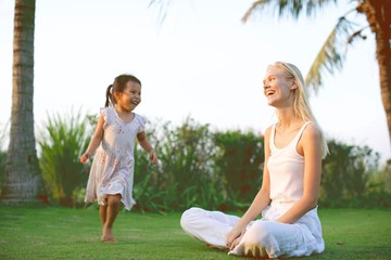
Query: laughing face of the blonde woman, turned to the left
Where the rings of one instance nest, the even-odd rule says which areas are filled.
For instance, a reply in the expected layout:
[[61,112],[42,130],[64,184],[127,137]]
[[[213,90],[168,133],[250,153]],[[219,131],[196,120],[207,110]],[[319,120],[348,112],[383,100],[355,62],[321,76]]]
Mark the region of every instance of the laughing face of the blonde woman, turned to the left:
[[263,80],[267,104],[278,107],[291,106],[291,91],[297,88],[293,80],[287,79],[285,72],[276,66],[269,67]]

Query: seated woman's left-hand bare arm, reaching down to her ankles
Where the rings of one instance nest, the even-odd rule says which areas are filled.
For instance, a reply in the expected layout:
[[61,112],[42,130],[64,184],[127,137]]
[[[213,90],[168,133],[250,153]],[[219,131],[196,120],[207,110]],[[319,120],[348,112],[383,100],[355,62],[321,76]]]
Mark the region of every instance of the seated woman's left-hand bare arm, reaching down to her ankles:
[[226,243],[230,249],[234,249],[239,244],[241,236],[244,234],[245,227],[250,223],[250,221],[254,220],[257,216],[260,216],[262,210],[264,210],[270,203],[270,196],[269,196],[270,179],[269,179],[269,172],[267,170],[267,161],[270,156],[269,136],[270,136],[270,128],[266,130],[264,136],[265,161],[264,161],[263,181],[262,181],[261,190],[256,194],[253,203],[245,211],[243,217],[239,220],[236,226],[228,233]]

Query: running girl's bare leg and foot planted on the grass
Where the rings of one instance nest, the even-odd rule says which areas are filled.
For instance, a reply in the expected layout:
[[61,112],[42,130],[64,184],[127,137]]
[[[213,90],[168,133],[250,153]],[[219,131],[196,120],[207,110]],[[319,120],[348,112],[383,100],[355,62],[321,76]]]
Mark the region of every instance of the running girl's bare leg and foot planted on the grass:
[[119,212],[121,194],[108,195],[108,206],[105,213],[105,222],[103,224],[102,240],[106,243],[116,243],[113,236],[114,220]]

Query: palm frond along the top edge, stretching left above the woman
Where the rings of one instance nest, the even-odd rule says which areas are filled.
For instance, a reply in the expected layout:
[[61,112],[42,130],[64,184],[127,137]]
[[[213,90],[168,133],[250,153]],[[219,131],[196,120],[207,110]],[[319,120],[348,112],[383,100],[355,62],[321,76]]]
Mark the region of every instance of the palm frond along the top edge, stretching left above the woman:
[[242,22],[255,14],[278,14],[278,17],[298,18],[302,12],[307,16],[315,14],[330,3],[337,3],[337,0],[257,0],[253,2],[250,9],[242,17]]

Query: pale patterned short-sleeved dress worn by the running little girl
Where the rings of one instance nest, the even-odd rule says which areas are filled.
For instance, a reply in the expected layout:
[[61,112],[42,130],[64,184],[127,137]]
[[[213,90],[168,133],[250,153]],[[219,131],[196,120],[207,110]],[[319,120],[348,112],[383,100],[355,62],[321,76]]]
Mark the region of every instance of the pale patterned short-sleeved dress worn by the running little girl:
[[108,194],[121,194],[127,210],[133,198],[136,135],[144,130],[146,118],[135,114],[130,122],[123,121],[114,107],[101,108],[104,118],[103,139],[93,157],[87,182],[86,203],[105,205]]

